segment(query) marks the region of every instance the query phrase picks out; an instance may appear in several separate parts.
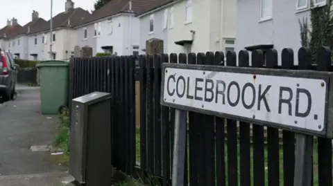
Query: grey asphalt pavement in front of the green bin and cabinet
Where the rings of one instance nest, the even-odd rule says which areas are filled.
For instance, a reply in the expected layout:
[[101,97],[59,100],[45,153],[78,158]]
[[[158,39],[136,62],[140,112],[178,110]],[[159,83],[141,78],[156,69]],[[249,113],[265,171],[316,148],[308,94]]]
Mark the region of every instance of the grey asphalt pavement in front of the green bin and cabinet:
[[57,122],[57,115],[40,113],[39,87],[17,85],[16,99],[0,104],[1,186],[61,186],[73,179],[48,149],[31,150],[51,145]]

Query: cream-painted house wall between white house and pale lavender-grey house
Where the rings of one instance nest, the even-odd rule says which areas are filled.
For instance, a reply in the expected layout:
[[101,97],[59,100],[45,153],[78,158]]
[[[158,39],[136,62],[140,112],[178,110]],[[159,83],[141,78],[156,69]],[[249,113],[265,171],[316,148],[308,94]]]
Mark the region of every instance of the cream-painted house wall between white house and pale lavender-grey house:
[[168,53],[234,50],[237,1],[180,0],[170,10]]

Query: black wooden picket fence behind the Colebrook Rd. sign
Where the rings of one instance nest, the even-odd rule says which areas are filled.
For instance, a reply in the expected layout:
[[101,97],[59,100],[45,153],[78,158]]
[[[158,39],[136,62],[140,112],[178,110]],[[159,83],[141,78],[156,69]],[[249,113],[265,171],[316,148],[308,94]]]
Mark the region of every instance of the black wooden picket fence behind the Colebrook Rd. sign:
[[[307,48],[298,50],[298,66],[290,48],[280,55],[274,49],[241,50],[239,68],[281,68],[333,71],[328,48],[318,49],[317,64],[311,65]],[[282,65],[278,65],[281,57]],[[135,57],[73,58],[70,62],[70,99],[92,91],[113,95],[112,148],[114,167],[126,174],[155,175],[162,185],[171,185],[175,109],[160,105],[161,64],[237,66],[237,55],[190,53]],[[266,61],[266,62],[265,62]],[[139,115],[135,115],[135,81],[140,82]],[[135,118],[140,127],[135,129]],[[185,151],[185,185],[291,186],[294,182],[296,133],[259,124],[189,112]],[[332,185],[332,140],[315,137],[311,180],[313,185]],[[139,161],[139,166],[137,166]]]

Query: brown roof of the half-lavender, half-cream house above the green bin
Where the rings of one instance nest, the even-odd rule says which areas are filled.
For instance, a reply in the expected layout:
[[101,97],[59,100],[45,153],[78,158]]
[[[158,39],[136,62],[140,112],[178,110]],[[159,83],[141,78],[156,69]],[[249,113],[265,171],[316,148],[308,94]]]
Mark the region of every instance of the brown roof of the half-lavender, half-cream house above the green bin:
[[[82,8],[73,8],[67,12],[61,12],[52,18],[53,29],[57,28],[71,28],[83,24],[92,15],[83,10]],[[46,24],[42,24],[35,29],[31,28],[30,34],[35,34],[37,32],[44,32],[50,29],[50,20]]]

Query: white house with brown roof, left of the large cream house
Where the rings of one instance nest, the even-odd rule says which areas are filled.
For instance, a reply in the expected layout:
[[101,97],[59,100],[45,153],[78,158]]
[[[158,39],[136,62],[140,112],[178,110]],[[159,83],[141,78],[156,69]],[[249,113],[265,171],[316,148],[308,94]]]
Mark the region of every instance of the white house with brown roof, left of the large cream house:
[[142,12],[155,0],[117,0],[92,13],[84,24],[77,26],[76,43],[89,46],[96,53],[117,55],[138,54],[140,48],[139,18]]

